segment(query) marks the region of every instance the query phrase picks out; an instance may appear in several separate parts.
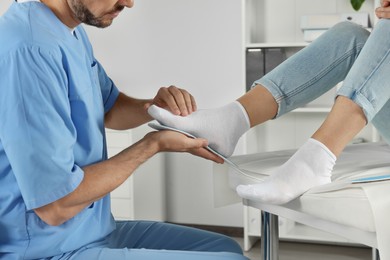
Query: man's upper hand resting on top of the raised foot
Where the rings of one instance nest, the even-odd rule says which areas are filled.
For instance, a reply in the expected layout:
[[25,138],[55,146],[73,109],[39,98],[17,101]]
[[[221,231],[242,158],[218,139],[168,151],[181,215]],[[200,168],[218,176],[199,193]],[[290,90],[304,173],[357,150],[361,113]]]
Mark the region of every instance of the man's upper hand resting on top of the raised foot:
[[152,104],[182,116],[187,116],[196,110],[194,97],[186,90],[175,86],[160,88],[152,103],[148,103],[146,108]]

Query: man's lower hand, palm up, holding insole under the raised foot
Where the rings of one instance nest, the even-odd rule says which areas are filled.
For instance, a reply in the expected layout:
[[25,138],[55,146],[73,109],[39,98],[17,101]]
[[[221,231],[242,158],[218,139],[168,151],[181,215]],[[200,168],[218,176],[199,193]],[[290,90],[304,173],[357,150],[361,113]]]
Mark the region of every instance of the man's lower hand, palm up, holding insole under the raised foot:
[[158,145],[160,152],[187,152],[216,163],[223,163],[223,159],[206,149],[208,142],[203,138],[190,138],[184,134],[162,130],[148,133],[145,138],[150,138]]

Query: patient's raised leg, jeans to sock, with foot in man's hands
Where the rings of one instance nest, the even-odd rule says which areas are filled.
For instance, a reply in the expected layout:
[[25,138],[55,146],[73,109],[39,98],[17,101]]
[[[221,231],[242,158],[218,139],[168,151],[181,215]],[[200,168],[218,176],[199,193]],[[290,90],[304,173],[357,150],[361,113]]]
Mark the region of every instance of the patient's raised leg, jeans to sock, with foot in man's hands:
[[352,23],[335,26],[256,81],[255,87],[238,99],[244,110],[237,109],[234,102],[195,112],[187,118],[153,106],[149,113],[161,124],[208,139],[212,148],[228,157],[240,136],[248,130],[246,117],[251,127],[261,124],[333,88],[348,74],[367,37],[365,29]]

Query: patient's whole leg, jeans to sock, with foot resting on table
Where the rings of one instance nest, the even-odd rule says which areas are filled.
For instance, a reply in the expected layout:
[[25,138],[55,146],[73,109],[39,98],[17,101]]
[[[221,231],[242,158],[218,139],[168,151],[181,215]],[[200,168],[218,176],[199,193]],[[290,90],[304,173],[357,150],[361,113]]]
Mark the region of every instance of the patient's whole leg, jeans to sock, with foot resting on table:
[[[389,114],[390,107],[386,105],[390,99],[387,84],[390,81],[387,79],[389,35],[390,21],[379,21],[338,91],[332,111],[312,136],[317,148],[310,140],[312,145],[303,145],[263,183],[237,187],[242,197],[265,203],[286,203],[311,187],[330,182],[334,158],[367,122],[375,119],[373,122],[381,133],[390,131],[387,122],[378,121],[388,119],[383,116]],[[321,151],[321,146],[327,152]]]

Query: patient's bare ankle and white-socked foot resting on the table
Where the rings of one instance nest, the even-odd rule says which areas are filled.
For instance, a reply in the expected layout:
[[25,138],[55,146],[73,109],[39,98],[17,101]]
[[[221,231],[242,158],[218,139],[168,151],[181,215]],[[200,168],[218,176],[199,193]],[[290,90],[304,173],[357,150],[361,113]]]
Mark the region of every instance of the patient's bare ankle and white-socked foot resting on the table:
[[238,194],[264,203],[284,204],[312,187],[330,183],[336,157],[365,125],[363,110],[350,99],[338,97],[311,139],[265,181],[238,186]]

